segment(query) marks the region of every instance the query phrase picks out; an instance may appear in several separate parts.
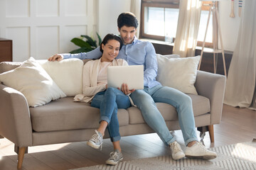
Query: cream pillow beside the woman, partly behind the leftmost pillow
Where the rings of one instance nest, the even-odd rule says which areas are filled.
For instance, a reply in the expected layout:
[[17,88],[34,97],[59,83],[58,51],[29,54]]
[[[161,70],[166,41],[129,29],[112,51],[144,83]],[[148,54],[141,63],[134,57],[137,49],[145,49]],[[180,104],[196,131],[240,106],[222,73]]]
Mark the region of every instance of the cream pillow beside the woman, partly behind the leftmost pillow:
[[80,59],[65,59],[60,62],[36,60],[67,96],[82,93],[82,68]]

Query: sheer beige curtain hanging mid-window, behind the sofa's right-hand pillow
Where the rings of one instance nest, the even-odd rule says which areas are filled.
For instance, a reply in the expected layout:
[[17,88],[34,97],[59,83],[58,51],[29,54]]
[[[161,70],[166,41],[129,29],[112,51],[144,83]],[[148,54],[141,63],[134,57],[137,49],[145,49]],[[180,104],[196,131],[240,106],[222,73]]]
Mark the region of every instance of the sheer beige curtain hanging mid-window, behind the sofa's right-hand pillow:
[[181,57],[195,56],[200,16],[201,1],[180,1],[174,54]]

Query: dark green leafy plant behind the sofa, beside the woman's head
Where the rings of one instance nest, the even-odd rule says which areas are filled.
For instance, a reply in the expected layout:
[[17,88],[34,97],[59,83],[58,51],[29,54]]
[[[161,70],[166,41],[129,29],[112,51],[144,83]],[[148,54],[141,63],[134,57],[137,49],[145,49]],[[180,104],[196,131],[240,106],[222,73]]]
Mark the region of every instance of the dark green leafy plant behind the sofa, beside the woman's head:
[[80,47],[77,50],[71,51],[70,53],[75,54],[80,52],[90,52],[95,48],[97,48],[97,46],[100,46],[102,39],[100,38],[100,35],[98,33],[96,34],[97,34],[98,43],[96,40],[93,40],[93,38],[91,38],[88,35],[81,35],[80,38],[73,38],[72,40],[70,40],[75,45],[78,45]]

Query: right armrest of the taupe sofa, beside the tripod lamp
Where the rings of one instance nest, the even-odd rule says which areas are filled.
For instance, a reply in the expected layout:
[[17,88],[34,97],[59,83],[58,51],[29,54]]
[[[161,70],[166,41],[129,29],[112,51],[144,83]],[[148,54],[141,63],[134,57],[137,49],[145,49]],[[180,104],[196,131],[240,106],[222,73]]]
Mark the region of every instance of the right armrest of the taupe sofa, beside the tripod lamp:
[[196,91],[198,95],[210,100],[210,124],[218,124],[223,111],[226,77],[220,74],[198,70],[196,76]]

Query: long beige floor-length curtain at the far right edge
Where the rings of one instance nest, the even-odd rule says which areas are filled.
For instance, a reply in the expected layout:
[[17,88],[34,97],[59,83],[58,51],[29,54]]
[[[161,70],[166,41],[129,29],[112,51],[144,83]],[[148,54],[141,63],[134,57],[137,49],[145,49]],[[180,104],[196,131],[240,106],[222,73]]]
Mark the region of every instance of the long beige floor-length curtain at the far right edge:
[[[224,103],[240,108],[255,106],[256,81],[256,1],[242,2],[238,42],[225,89]],[[253,109],[253,108],[252,108]]]

